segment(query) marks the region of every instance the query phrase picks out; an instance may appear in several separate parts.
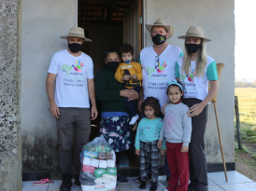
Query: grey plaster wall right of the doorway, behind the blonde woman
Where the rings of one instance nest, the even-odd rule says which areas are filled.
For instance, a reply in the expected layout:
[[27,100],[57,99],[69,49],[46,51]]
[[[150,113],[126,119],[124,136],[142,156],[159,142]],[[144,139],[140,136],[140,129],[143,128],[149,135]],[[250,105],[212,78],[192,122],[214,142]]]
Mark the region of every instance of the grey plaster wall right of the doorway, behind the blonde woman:
[[[220,76],[217,109],[226,162],[235,161],[234,150],[234,97],[235,97],[235,1],[234,0],[144,0],[144,22],[152,24],[158,18],[174,27],[168,43],[184,50],[184,40],[190,26],[204,28],[208,42],[207,53],[217,63],[225,64]],[[161,10],[161,11],[159,11]],[[149,32],[144,27],[145,46],[151,46]],[[213,104],[209,105],[205,136],[208,163],[220,163],[220,143]]]

